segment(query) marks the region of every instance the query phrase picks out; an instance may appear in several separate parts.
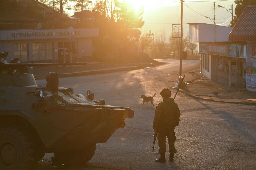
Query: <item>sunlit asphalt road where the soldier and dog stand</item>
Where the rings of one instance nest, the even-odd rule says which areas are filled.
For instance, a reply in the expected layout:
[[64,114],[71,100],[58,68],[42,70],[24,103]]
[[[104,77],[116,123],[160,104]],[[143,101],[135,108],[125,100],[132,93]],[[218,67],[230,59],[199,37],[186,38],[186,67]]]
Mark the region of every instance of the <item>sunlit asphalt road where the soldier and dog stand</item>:
[[[140,95],[153,95],[154,103],[162,99],[160,91],[171,88],[179,73],[178,60],[168,64],[101,75],[61,78],[60,86],[85,94],[88,89],[107,104],[131,107],[134,118],[126,119],[126,127],[118,129],[97,150],[85,167],[58,167],[65,170],[146,170],[146,169],[256,169],[256,107],[240,104],[201,101],[179,93],[181,122],[176,128],[174,163],[155,163],[152,153],[154,109],[147,109]],[[184,73],[199,68],[199,61],[184,61]],[[44,85],[45,80],[39,80]],[[175,92],[175,91],[173,91]],[[158,149],[158,147],[156,147]],[[167,154],[168,156],[169,154]],[[46,154],[37,170],[53,170]]]

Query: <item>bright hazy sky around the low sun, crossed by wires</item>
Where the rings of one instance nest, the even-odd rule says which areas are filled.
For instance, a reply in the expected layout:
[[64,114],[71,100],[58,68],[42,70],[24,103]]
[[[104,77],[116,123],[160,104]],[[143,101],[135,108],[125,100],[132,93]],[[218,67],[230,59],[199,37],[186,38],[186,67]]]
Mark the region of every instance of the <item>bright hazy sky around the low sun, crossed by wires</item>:
[[[144,6],[143,20],[144,26],[140,29],[142,34],[151,30],[157,35],[161,30],[165,30],[167,35],[171,35],[172,24],[180,24],[180,2],[177,0],[127,0],[135,8]],[[194,1],[194,2],[193,2]],[[206,2],[205,2],[206,1]],[[214,24],[209,18],[214,16],[214,2],[211,0],[185,0],[183,5],[183,32],[186,35],[189,31],[187,23],[208,23]],[[233,3],[233,13],[235,11],[234,0],[216,0],[215,13],[216,24],[227,26],[231,21],[231,14],[224,8],[217,5],[226,6]],[[231,7],[226,7],[231,8]],[[193,11],[194,10],[194,11]],[[196,11],[196,12],[195,12]],[[73,12],[69,12],[73,15]]]

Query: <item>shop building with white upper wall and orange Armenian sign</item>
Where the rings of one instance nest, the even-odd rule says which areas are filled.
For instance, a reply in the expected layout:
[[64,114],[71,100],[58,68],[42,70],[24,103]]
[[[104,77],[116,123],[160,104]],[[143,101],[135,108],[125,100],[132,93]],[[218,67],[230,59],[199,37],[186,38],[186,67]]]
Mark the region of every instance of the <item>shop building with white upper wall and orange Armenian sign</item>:
[[190,24],[190,42],[198,45],[200,70],[208,79],[228,86],[246,84],[246,42],[228,41],[232,27]]

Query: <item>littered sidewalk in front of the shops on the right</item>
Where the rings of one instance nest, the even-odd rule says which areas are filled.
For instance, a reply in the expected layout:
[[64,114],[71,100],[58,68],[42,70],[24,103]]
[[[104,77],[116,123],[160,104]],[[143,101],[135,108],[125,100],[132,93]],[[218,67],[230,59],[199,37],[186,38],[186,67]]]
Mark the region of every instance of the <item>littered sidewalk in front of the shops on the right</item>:
[[185,80],[188,84],[182,90],[193,98],[215,102],[256,104],[256,92],[247,91],[245,87],[221,86],[204,77],[199,70],[190,71]]

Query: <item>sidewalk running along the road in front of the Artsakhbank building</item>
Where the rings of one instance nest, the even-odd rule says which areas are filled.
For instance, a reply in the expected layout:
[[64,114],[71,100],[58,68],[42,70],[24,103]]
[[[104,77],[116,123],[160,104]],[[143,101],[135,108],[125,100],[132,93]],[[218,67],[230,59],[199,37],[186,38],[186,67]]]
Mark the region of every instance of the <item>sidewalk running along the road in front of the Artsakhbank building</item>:
[[116,64],[116,63],[102,63],[102,62],[87,62],[87,65],[82,66],[42,66],[34,67],[34,77],[36,80],[45,79],[48,72],[56,72],[59,77],[73,77],[93,74],[103,74],[118,71],[127,71],[141,69],[145,67],[151,67],[161,65],[163,63],[128,63],[128,64]]

